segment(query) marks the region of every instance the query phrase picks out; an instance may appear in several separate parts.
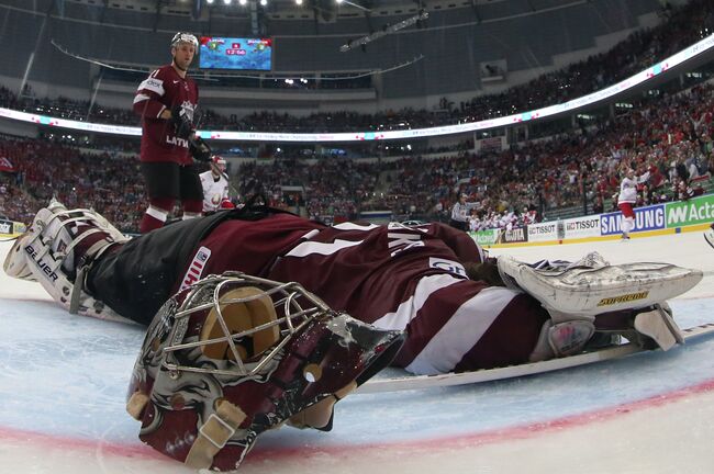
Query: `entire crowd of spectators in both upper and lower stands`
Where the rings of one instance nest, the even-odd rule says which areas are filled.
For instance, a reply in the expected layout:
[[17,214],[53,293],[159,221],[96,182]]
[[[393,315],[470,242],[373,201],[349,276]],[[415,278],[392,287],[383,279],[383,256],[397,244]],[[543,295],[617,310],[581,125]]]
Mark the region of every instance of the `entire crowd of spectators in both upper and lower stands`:
[[[635,33],[605,55],[542,76],[505,94],[480,97],[461,104],[451,116],[477,111],[469,119],[484,119],[599,89],[698,40],[704,32],[702,25],[712,21],[710,3],[693,1],[680,9],[669,9],[666,27]],[[501,100],[516,105],[504,109]],[[129,109],[114,111],[81,101],[38,99],[31,88],[25,88],[21,98],[0,88],[0,105],[32,108],[74,120],[137,121]],[[321,219],[354,218],[362,211],[388,210],[400,219],[447,221],[456,196],[465,193],[471,203],[471,226],[476,229],[521,225],[524,214],[527,219],[534,215],[543,218],[551,210],[568,206],[581,206],[582,213],[610,211],[626,167],[638,173],[649,171],[637,204],[688,199],[701,192],[700,177],[706,180],[714,172],[712,111],[714,90],[703,84],[682,93],[642,99],[634,109],[587,128],[526,142],[503,151],[477,154],[471,143],[466,147],[459,144],[457,151],[447,157],[415,154],[399,160],[366,162],[341,156],[305,159],[291,150],[268,160],[268,165],[248,161],[242,166],[234,190],[242,196],[264,194],[272,205]],[[378,115],[344,112],[303,120],[256,112],[248,117],[226,119],[209,111],[203,120],[211,126],[228,123],[243,129],[286,127],[293,132],[344,131],[346,124],[369,129],[392,121],[420,126],[439,123],[437,115],[429,113],[425,123],[424,114],[409,110]],[[108,138],[109,142],[98,139],[92,145],[58,138],[52,134],[40,139],[0,137],[0,158],[8,158],[16,168],[15,173],[0,173],[2,214],[29,222],[55,195],[69,206],[91,206],[122,229],[134,230],[145,205],[134,155],[137,143]],[[382,144],[376,142],[375,146]]]

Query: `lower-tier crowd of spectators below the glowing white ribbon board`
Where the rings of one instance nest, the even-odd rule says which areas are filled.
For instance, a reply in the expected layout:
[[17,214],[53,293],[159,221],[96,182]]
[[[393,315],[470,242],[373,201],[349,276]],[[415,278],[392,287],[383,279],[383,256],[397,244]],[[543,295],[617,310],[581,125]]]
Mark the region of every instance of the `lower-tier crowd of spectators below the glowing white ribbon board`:
[[[644,100],[589,129],[503,151],[365,161],[344,157],[249,160],[234,177],[234,198],[261,194],[268,203],[311,218],[343,221],[389,211],[399,219],[446,221],[467,194],[471,228],[518,226],[553,210],[581,214],[615,210],[623,170],[649,172],[637,205],[689,199],[714,173],[714,86]],[[124,230],[144,211],[138,160],[48,139],[2,137],[0,208],[30,222],[53,195],[68,206],[93,207]],[[528,221],[524,221],[528,219]]]

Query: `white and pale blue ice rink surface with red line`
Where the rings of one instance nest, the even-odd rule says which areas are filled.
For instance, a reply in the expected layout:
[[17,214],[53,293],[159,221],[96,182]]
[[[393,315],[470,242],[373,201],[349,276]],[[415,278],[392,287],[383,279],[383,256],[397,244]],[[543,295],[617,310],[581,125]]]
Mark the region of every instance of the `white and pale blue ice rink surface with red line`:
[[[10,244],[0,244],[0,257]],[[682,327],[714,321],[714,249],[701,232],[493,250],[524,261],[667,261],[704,271],[670,302]],[[0,272],[0,472],[190,473],[143,445],[124,411],[143,329],[71,316]],[[353,395],[333,431],[258,438],[244,473],[712,473],[714,336],[559,372]]]

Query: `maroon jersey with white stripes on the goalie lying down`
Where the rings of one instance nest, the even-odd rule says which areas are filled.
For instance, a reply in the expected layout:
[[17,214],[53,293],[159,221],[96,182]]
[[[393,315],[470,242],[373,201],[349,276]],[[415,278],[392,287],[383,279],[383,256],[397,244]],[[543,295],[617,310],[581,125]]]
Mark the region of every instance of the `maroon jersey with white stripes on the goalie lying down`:
[[292,215],[226,221],[197,250],[181,287],[239,270],[295,281],[332,308],[383,329],[406,330],[395,364],[420,374],[523,363],[547,314],[529,296],[466,276],[482,250],[443,224],[344,223]]

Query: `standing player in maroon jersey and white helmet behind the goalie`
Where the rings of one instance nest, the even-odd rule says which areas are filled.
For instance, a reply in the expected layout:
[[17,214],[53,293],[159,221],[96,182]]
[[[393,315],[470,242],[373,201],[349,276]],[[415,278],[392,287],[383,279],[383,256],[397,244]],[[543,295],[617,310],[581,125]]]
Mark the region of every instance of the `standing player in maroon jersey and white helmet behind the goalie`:
[[203,193],[191,157],[201,156],[200,148],[192,145],[199,89],[187,76],[198,45],[192,34],[177,33],[170,45],[171,64],[153,71],[134,97],[134,112],[142,117],[140,158],[148,194],[148,207],[140,224],[142,234],[161,227],[177,199],[182,218],[201,215]]

